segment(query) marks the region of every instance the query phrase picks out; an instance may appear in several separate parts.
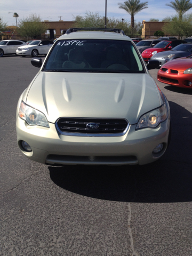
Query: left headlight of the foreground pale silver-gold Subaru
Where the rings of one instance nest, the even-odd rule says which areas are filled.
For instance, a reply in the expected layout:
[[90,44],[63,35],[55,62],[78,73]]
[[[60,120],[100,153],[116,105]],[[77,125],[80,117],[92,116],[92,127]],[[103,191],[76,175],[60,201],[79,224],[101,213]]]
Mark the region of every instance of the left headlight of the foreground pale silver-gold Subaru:
[[40,125],[50,127],[45,115],[37,109],[29,107],[23,101],[19,108],[19,116],[29,125]]

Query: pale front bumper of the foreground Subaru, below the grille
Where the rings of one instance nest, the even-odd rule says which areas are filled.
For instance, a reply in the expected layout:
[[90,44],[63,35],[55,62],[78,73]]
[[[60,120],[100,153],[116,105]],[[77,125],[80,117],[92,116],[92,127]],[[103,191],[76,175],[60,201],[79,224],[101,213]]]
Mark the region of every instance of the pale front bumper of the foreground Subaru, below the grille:
[[[161,123],[156,129],[141,129],[135,131],[136,125],[130,125],[129,130],[119,137],[73,137],[59,134],[55,124],[50,128],[29,126],[17,117],[17,140],[22,153],[39,163],[58,164],[147,164],[161,157],[169,137],[170,119]],[[21,141],[26,141],[32,152],[26,152]],[[158,154],[153,149],[163,143],[164,147]]]

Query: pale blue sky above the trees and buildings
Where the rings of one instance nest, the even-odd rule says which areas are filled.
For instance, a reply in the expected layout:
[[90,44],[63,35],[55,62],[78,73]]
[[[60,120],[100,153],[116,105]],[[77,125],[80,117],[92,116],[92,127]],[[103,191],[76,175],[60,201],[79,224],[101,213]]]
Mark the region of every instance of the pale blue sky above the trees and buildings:
[[[148,2],[148,8],[137,13],[134,17],[135,21],[148,21],[150,18],[162,21],[165,17],[175,15],[174,9],[165,5],[171,1],[173,0],[140,0],[140,3]],[[126,19],[130,22],[130,14],[118,7],[118,3],[124,2],[125,0],[107,0],[107,17]],[[18,20],[27,18],[30,14],[36,14],[40,15],[42,21],[59,21],[60,19],[74,21],[74,17],[77,15],[84,16],[86,12],[98,12],[100,16],[105,16],[105,6],[106,0],[2,0],[0,3],[0,18],[3,22],[7,22],[8,26],[16,26],[16,19],[13,17],[14,12],[19,14]]]

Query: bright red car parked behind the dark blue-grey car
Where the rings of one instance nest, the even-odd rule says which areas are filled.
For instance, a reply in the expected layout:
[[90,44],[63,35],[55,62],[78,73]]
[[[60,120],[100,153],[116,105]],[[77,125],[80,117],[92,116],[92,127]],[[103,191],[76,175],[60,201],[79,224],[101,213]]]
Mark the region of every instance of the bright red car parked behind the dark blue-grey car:
[[143,57],[143,60],[145,60],[145,62],[147,62],[157,52],[170,51],[171,49],[173,49],[175,46],[177,46],[179,44],[186,44],[186,42],[183,40],[161,41],[158,44],[156,44],[155,47],[148,48],[145,51],[143,51],[141,53],[141,55]]

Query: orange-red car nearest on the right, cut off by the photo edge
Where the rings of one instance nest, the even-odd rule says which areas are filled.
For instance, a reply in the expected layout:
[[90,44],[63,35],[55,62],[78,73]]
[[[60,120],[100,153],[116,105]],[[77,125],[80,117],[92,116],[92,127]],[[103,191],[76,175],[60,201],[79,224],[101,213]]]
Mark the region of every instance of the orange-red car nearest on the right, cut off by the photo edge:
[[192,89],[192,55],[166,62],[157,74],[159,82]]

